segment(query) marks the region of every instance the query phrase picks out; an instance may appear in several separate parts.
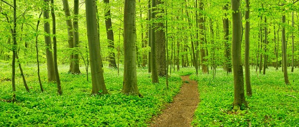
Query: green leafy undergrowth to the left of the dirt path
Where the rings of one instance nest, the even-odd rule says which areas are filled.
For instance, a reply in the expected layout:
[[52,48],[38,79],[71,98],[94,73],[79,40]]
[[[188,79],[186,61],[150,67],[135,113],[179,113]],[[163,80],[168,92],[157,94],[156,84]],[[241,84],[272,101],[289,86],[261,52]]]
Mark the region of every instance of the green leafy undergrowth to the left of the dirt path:
[[[138,87],[144,98],[120,93],[123,86],[123,69],[104,68],[109,95],[91,96],[91,78],[86,79],[84,67],[80,75],[68,74],[67,65],[60,65],[63,95],[56,93],[56,84],[46,82],[46,65],[41,65],[41,80],[45,92],[40,92],[35,65],[23,65],[30,93],[25,92],[19,72],[16,72],[17,102],[0,101],[0,127],[146,127],[172,102],[182,81],[178,74],[152,84],[150,73],[138,69]],[[1,63],[0,99],[11,99],[11,67]],[[90,71],[89,71],[90,72]]]

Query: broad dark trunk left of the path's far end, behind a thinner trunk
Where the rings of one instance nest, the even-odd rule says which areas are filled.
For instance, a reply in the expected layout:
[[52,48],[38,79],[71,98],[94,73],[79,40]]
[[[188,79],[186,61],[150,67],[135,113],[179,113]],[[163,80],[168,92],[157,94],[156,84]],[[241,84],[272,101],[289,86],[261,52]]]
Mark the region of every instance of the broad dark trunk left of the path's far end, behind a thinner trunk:
[[157,27],[155,28],[155,42],[156,42],[156,59],[157,59],[157,68],[158,68],[158,75],[159,76],[166,76],[166,38],[165,38],[165,25],[164,19],[161,15],[164,13],[164,2],[162,0],[156,0],[156,4],[158,5],[159,14],[157,16]]

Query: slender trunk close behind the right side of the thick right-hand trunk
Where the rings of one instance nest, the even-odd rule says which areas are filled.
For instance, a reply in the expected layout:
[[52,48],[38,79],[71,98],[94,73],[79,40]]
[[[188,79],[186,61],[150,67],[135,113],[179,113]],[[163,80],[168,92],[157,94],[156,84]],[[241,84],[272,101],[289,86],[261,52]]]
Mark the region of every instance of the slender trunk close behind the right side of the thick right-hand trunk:
[[245,11],[245,80],[246,80],[246,95],[252,96],[250,84],[250,67],[249,67],[249,51],[250,51],[250,5],[249,0],[246,0]]

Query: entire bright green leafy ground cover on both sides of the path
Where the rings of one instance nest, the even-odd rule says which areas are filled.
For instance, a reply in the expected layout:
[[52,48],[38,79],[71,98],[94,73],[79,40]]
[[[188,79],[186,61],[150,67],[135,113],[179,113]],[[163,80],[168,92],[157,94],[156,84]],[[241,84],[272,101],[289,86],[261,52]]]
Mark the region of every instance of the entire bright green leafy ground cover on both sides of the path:
[[[0,66],[0,98],[10,99],[11,83],[9,63]],[[36,66],[26,65],[24,71],[31,92],[27,93],[17,75],[15,104],[0,102],[0,127],[29,126],[97,126],[145,127],[152,116],[160,113],[164,104],[171,102],[179,92],[180,75],[190,75],[198,81],[199,106],[192,125],[195,127],[299,127],[299,73],[290,73],[291,85],[284,84],[283,73],[274,68],[266,75],[251,72],[253,96],[247,97],[250,109],[242,107],[232,111],[233,75],[218,69],[212,75],[194,75],[194,68],[180,69],[169,78],[170,90],[165,89],[165,78],[151,84],[147,70],[138,70],[138,84],[144,98],[120,94],[123,70],[104,68],[106,86],[110,95],[91,97],[91,82],[86,75],[71,75],[67,65],[61,65],[60,76],[63,95],[56,94],[56,85],[46,82],[46,66],[41,66],[41,77],[46,90],[41,93],[36,76]],[[84,67],[81,68],[84,73]],[[89,80],[90,77],[89,77]]]

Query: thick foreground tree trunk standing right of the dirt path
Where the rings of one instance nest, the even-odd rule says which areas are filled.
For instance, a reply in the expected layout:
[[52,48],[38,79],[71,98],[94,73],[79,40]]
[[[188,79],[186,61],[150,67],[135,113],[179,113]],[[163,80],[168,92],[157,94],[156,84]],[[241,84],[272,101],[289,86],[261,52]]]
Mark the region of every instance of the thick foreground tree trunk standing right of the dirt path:
[[240,110],[242,104],[247,106],[244,94],[244,76],[241,56],[242,40],[242,16],[240,11],[240,0],[231,0],[232,3],[232,58],[234,74],[234,110]]

